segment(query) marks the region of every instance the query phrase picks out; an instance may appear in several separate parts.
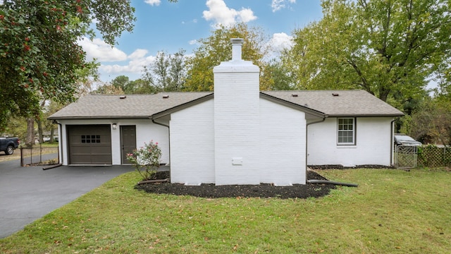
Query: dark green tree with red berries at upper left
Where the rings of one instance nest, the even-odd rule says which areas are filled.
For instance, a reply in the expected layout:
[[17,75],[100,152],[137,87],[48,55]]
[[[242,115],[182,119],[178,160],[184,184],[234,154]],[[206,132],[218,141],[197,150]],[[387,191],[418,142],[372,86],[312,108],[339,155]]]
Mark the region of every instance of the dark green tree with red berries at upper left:
[[[176,0],[168,0],[176,1]],[[89,26],[113,45],[131,31],[130,0],[4,0],[0,4],[0,128],[11,116],[37,116],[42,99],[72,102],[89,68],[78,40]]]

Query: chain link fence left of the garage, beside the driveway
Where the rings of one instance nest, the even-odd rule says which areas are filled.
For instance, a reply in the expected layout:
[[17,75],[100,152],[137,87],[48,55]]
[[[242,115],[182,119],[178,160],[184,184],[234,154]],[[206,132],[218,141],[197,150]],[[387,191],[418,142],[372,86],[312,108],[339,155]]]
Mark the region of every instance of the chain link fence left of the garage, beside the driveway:
[[33,146],[20,147],[20,166],[39,166],[58,164],[58,147]]

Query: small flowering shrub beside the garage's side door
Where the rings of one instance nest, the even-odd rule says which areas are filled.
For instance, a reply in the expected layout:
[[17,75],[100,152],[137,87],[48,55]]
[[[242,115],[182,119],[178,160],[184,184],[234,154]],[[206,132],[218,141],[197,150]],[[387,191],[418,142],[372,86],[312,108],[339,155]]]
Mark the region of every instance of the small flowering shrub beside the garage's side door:
[[161,149],[158,142],[144,143],[144,147],[134,150],[127,155],[127,159],[135,167],[136,171],[142,176],[142,180],[154,179],[156,171],[160,167]]

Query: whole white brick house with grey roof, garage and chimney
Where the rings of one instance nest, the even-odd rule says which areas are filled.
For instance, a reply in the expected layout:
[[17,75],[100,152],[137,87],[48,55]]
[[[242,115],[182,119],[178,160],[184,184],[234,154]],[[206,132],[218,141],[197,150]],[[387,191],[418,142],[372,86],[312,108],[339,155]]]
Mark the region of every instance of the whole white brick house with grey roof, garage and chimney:
[[61,163],[128,164],[154,140],[171,182],[306,183],[307,165],[390,166],[402,112],[362,90],[259,92],[259,67],[233,59],[214,68],[214,92],[87,95],[49,117]]

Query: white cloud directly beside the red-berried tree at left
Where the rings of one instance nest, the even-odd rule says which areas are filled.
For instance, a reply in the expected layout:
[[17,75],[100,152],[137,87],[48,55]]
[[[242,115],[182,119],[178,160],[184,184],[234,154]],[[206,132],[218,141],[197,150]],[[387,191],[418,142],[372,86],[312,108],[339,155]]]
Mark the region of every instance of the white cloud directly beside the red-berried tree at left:
[[124,61],[127,59],[127,54],[97,38],[91,41],[87,37],[83,37],[78,43],[85,50],[88,60]]

